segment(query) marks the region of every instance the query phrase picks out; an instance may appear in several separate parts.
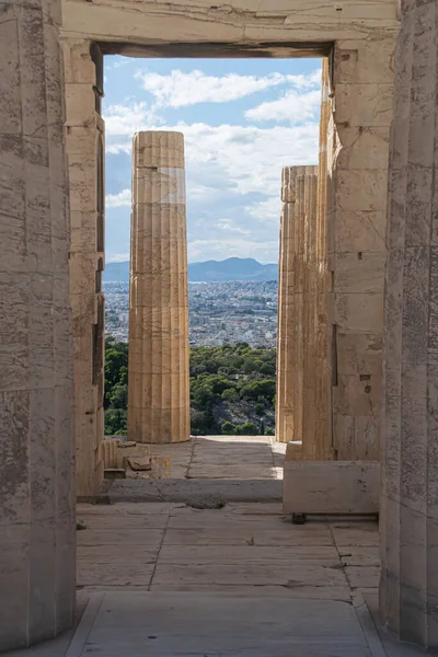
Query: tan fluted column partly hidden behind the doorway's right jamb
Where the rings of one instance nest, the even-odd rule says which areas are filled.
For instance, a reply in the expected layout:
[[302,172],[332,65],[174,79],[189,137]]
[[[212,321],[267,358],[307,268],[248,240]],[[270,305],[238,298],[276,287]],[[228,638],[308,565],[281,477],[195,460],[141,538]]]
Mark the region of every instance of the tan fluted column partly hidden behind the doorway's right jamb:
[[[283,170],[277,342],[277,440],[302,458],[308,256],[316,224],[316,166]],[[313,438],[314,440],[314,438]]]

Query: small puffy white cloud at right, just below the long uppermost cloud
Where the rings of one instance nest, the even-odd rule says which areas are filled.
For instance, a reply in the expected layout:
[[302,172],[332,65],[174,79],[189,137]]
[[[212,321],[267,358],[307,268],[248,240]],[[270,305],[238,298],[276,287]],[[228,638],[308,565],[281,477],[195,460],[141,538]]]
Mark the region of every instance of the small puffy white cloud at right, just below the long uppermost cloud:
[[321,104],[321,92],[319,90],[307,93],[288,91],[284,96],[275,101],[266,101],[256,107],[245,112],[246,118],[254,120],[277,120],[299,124],[315,119]]

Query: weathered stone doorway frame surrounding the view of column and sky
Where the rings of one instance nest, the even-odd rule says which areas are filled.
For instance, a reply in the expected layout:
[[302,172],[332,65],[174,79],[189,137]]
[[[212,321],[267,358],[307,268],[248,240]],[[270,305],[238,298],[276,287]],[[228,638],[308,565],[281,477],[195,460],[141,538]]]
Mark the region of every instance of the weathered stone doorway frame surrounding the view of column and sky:
[[[307,377],[301,373],[307,391],[301,397],[304,408],[302,417],[304,422],[311,420],[308,427],[302,428],[304,434],[311,436],[311,442],[315,436],[322,437],[321,449],[318,448],[316,451],[318,458],[323,460],[338,458],[376,461],[379,458],[383,235],[392,89],[389,80],[392,79],[390,69],[394,36],[394,31],[389,30],[388,34],[379,37],[373,44],[382,57],[379,73],[370,69],[373,49],[367,39],[347,42],[348,48],[344,47],[344,42],[319,43],[312,47],[279,44],[275,48],[261,47],[258,53],[258,56],[269,51],[274,56],[287,54],[300,57],[310,53],[325,55],[323,104],[325,103],[328,113],[325,114],[326,124],[322,131],[324,141],[321,142],[320,159],[323,159],[320,162],[319,193],[327,199],[325,208],[322,209],[327,223],[325,226],[324,221],[322,222],[323,232],[326,230],[326,242],[320,253],[320,262],[315,262],[322,272],[320,298],[323,299],[323,303],[318,312],[316,307],[311,309],[312,313],[318,314],[314,318],[315,323],[323,328],[314,339],[320,339],[323,346],[320,360],[310,364]],[[223,46],[212,45],[207,53],[210,56],[227,53],[229,56],[230,50],[222,48]],[[97,45],[95,42],[71,39],[67,36],[64,38],[64,49],[68,62],[67,124],[68,149],[72,152],[72,177],[74,180],[74,176],[79,175],[82,180],[87,177],[89,182],[90,178],[93,180],[92,170],[88,169],[81,155],[87,149],[87,162],[96,172],[95,181],[99,187],[102,177],[102,163],[99,162],[104,132],[99,110],[103,91],[100,81],[103,80],[104,54],[175,56],[181,51],[183,55],[196,57],[205,53],[195,45],[169,45],[151,50],[129,44],[102,42]],[[237,48],[232,54],[241,57],[252,53]],[[334,97],[336,106],[333,103]],[[94,127],[91,128],[91,125]],[[95,154],[90,157],[93,148]],[[97,162],[96,168],[93,161]],[[325,168],[327,176],[323,172]],[[359,180],[362,192],[360,194],[356,191]],[[102,234],[102,228],[99,228],[102,223],[99,204],[94,214],[90,211],[94,207],[93,196],[84,198],[83,189],[80,197],[76,194],[73,184],[70,200],[72,208],[80,208],[77,212],[78,221],[79,217],[82,222],[89,221],[89,229],[93,231],[94,227],[97,227],[97,233]],[[101,193],[97,194],[97,198],[100,195]],[[77,307],[73,304],[73,314],[74,308],[78,310],[77,353],[80,353],[79,361],[89,358],[95,372],[92,382],[85,383],[85,387],[92,385],[93,393],[84,395],[81,392],[84,385],[82,379],[88,377],[89,368],[81,370],[77,359],[77,414],[84,414],[87,419],[82,422],[79,417],[77,422],[78,491],[80,495],[87,496],[99,489],[103,474],[103,427],[99,401],[101,374],[97,372],[101,368],[99,364],[103,362],[102,341],[99,339],[99,312],[102,316],[103,300],[100,297],[101,292],[96,292],[97,284],[94,280],[101,280],[100,268],[103,266],[104,254],[101,251],[91,253],[90,241],[87,246],[81,243],[80,235],[84,234],[84,226],[81,224],[76,232],[78,242],[72,247],[70,267],[72,299],[78,299]],[[102,246],[99,234],[96,243]],[[79,288],[81,296],[76,295]],[[85,332],[91,327],[91,335],[94,336],[90,343],[92,348],[85,348],[84,327]],[[102,372],[102,369],[100,371]],[[318,384],[314,372],[319,374]],[[307,408],[311,412],[307,412]],[[297,426],[299,435],[300,425]],[[92,436],[89,435],[90,431]],[[290,435],[293,436],[293,431],[286,431],[285,439],[288,440]],[[90,450],[93,450],[92,453]],[[315,447],[310,446],[306,458],[314,458],[314,450]],[[296,458],[301,459],[302,456],[293,448],[291,459]],[[85,470],[81,465],[82,459],[87,461]]]

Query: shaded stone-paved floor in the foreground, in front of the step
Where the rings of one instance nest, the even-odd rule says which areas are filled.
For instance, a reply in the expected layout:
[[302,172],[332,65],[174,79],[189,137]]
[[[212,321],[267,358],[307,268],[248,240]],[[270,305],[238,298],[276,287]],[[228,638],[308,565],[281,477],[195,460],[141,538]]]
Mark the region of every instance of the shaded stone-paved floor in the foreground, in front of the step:
[[[280,503],[79,505],[74,632],[14,657],[414,657],[373,621],[371,520]],[[11,654],[12,657],[12,654]]]

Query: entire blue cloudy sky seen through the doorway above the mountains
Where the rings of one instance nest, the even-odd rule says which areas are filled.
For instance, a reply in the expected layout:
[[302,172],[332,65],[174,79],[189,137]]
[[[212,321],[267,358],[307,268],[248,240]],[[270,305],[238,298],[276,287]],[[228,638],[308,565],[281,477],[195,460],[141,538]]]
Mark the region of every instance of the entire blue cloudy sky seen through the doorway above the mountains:
[[281,168],[318,163],[319,59],[105,57],[106,262],[129,260],[132,135],[185,138],[188,262],[278,261]]

